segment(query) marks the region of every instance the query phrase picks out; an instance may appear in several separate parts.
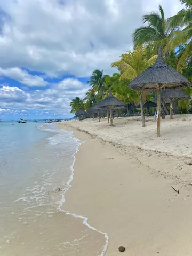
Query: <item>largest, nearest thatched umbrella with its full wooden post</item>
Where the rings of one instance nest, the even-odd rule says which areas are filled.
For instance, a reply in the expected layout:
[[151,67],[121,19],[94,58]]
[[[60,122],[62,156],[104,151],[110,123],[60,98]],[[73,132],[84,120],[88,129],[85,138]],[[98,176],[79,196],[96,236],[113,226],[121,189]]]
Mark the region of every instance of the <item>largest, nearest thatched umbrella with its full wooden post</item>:
[[185,76],[170,67],[164,62],[162,47],[158,47],[158,57],[153,66],[147,68],[136,77],[129,87],[133,90],[148,90],[157,92],[157,137],[160,136],[161,118],[161,90],[163,89],[183,89],[189,87],[190,82]]

